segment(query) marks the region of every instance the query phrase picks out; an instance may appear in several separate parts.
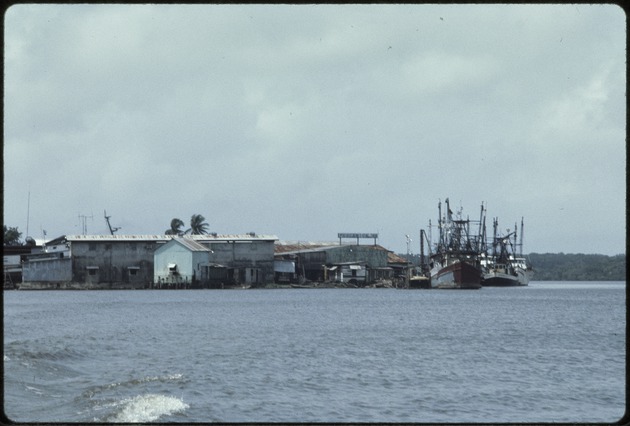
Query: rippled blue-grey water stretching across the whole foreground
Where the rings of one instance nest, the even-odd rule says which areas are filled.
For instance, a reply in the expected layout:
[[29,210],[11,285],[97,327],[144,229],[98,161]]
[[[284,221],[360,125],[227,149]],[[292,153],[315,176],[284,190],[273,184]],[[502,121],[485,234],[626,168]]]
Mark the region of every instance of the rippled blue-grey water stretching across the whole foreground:
[[614,422],[626,284],[5,291],[19,422]]

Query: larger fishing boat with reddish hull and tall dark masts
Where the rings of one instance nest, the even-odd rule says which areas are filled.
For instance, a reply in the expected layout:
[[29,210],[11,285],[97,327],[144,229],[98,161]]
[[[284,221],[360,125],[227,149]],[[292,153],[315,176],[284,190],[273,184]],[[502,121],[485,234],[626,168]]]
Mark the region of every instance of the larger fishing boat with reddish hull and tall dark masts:
[[471,234],[471,224],[476,221],[462,219],[461,209],[456,217],[448,198],[446,215],[442,217],[442,203],[438,203],[439,241],[435,252],[430,255],[431,287],[445,289],[481,288],[480,253],[485,241],[485,210],[477,222],[476,235]]

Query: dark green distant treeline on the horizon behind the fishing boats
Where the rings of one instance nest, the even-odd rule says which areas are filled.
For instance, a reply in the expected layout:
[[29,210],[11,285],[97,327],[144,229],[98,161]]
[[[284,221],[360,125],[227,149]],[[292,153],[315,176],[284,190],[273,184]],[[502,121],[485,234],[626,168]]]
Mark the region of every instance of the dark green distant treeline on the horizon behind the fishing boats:
[[[407,258],[404,253],[398,254]],[[625,281],[626,255],[530,253],[525,255],[534,268],[533,281]],[[409,255],[418,265],[420,255]]]

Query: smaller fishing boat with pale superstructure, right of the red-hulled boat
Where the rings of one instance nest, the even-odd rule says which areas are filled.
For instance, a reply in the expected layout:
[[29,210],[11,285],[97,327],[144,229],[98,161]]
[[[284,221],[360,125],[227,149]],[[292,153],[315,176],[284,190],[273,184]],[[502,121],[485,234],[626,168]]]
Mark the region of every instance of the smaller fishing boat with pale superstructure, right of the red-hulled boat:
[[[521,242],[517,244],[517,225],[514,231],[507,231],[506,235],[498,235],[498,219],[494,219],[494,234],[492,253],[481,260],[483,276],[481,285],[484,287],[515,287],[526,286],[532,274],[532,268],[522,255],[523,220],[521,219]],[[512,237],[513,241],[512,242]],[[521,247],[521,254],[517,257],[516,247]]]

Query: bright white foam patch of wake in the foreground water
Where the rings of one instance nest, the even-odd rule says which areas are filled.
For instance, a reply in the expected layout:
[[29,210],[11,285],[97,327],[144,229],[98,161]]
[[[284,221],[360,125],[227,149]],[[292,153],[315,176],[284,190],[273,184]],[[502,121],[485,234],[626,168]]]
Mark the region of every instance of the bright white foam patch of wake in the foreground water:
[[145,423],[162,416],[184,411],[189,405],[179,398],[165,395],[139,395],[122,401],[122,409],[112,420],[122,423]]

